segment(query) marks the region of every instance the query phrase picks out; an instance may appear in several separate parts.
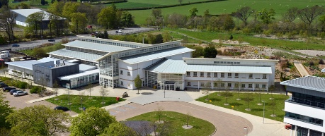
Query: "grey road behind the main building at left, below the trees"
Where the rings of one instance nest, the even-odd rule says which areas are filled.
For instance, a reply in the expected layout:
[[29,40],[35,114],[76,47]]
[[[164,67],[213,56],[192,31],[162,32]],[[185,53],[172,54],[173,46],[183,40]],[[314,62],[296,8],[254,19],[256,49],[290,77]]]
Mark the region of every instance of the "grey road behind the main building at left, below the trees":
[[[15,49],[15,48],[23,48],[23,47],[36,47],[38,45],[42,45],[45,43],[61,42],[62,38],[65,38],[65,37],[55,38],[55,42],[48,42],[49,39],[40,39],[40,40],[35,40],[35,41],[30,41],[30,42],[16,43],[19,45],[19,47],[11,47],[12,44],[10,43],[10,44],[0,46],[0,50],[3,51],[3,50],[7,50],[7,49]],[[69,36],[67,38],[69,38],[69,40],[72,40],[72,39],[76,39],[76,36]]]

